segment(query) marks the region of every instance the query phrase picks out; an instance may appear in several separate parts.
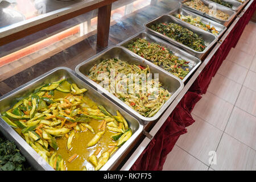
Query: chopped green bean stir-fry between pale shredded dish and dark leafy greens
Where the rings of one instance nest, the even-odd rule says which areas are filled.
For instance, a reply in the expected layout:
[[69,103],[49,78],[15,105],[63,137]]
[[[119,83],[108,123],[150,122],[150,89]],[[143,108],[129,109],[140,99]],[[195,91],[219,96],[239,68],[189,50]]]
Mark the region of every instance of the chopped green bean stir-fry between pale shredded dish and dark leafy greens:
[[127,48],[179,77],[181,80],[189,73],[189,61],[180,59],[168,48],[162,47],[159,44],[150,43],[146,39],[137,39],[130,43]]

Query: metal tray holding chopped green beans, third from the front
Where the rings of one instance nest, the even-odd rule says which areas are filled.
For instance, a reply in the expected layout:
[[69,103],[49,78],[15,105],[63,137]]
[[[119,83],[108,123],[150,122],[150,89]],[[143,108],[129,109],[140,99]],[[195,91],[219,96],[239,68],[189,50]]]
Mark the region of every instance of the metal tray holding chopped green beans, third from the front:
[[[160,46],[167,47],[168,49],[170,49],[174,53],[175,56],[177,56],[177,57],[179,57],[181,59],[189,61],[188,65],[189,65],[189,70],[190,71],[189,71],[188,75],[183,78],[183,80],[182,80],[183,82],[185,82],[189,78],[189,76],[191,76],[191,74],[201,64],[201,60],[198,59],[197,57],[192,56],[191,54],[183,51],[182,49],[180,49],[178,47],[175,47],[175,46],[172,46],[172,44],[164,42],[164,40],[159,39],[159,38],[155,37],[154,35],[148,34],[147,32],[139,32],[138,34],[132,36],[131,38],[123,41],[122,43],[120,43],[118,45],[127,48],[127,46],[130,43],[134,42],[135,40],[137,40],[139,38],[146,39],[150,43],[157,43]],[[150,60],[148,60],[148,61],[150,61]],[[160,68],[163,69],[162,67],[160,67]],[[165,70],[163,69],[163,71],[165,71]],[[165,72],[167,72],[167,71],[165,71]],[[167,72],[167,73],[171,74],[170,72]]]

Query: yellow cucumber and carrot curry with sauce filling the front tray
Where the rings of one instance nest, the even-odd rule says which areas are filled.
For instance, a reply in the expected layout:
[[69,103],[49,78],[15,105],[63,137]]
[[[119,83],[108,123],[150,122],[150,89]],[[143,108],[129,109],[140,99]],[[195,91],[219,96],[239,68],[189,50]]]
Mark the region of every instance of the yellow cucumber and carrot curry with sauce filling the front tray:
[[42,85],[1,117],[56,171],[99,170],[133,133],[86,91],[65,79]]

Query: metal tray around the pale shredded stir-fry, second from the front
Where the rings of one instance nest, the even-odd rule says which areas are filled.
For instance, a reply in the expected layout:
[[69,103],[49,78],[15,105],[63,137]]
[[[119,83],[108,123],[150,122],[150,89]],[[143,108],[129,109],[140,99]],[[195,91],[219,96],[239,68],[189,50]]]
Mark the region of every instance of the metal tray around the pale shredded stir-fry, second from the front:
[[[131,109],[130,106],[126,105],[125,102],[119,100],[112,93],[108,92],[106,89],[102,88],[96,82],[86,77],[86,75],[88,75],[89,73],[90,68],[92,68],[95,64],[100,63],[102,60],[113,58],[121,59],[122,61],[127,61],[127,63],[129,64],[139,64],[145,67],[148,65],[151,73],[159,73],[159,82],[163,83],[163,87],[167,89],[172,94],[172,96],[169,98],[169,100],[166,101],[166,103],[159,109],[159,111],[153,117],[144,117],[143,115],[137,113],[137,111]],[[141,56],[138,56],[137,54],[121,46],[113,46],[109,49],[106,49],[105,51],[98,53],[90,59],[82,62],[81,64],[77,65],[76,72],[79,75],[81,75],[86,81],[94,85],[98,90],[100,90],[100,92],[104,93],[113,101],[117,102],[117,104],[121,105],[127,111],[133,113],[138,118],[142,119],[142,121],[144,122],[155,121],[156,119],[158,119],[160,115],[163,114],[164,110],[166,110],[167,107],[171,104],[171,102],[174,100],[177,94],[179,94],[181,89],[184,87],[183,82],[179,78],[167,73],[166,71],[163,71],[163,69],[157,67],[153,63],[150,63],[149,61],[142,59]]]

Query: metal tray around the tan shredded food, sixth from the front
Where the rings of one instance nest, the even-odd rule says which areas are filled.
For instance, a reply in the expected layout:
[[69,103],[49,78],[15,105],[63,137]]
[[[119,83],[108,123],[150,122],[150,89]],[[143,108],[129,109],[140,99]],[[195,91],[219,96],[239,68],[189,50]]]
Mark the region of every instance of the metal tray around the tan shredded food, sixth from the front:
[[[224,23],[226,23],[226,22],[229,22],[229,21],[233,18],[233,16],[236,15],[236,11],[233,11],[233,10],[231,10],[231,9],[225,7],[225,6],[221,6],[221,5],[216,4],[216,3],[214,3],[214,2],[209,2],[209,1],[205,1],[205,0],[200,0],[200,1],[202,1],[206,6],[209,6],[210,4],[211,4],[211,6],[212,6],[212,5],[214,4],[214,6],[216,6],[216,10],[221,10],[221,11],[223,11],[224,13],[229,14],[229,18],[228,18],[227,20],[222,20],[222,19],[219,19],[219,18],[215,18],[214,16],[210,16],[210,15],[208,15],[208,14],[206,14],[206,13],[203,13],[203,12],[201,12],[201,11],[199,11],[199,10],[193,9],[192,7],[189,7],[189,6],[187,6],[187,5],[184,5],[184,3],[187,2],[187,1],[191,1],[191,0],[184,0],[184,1],[181,1],[181,2],[180,2],[180,3],[181,3],[181,7],[182,7],[183,9],[187,9],[187,10],[192,11],[192,12],[194,12],[194,13],[200,14],[200,15],[202,15],[202,16],[205,16],[206,18],[212,19],[212,20],[214,20],[215,22],[218,22],[218,23],[221,23],[221,24],[224,24]],[[211,6],[210,6],[210,7],[211,7]]]

